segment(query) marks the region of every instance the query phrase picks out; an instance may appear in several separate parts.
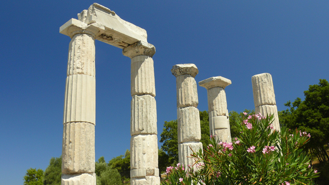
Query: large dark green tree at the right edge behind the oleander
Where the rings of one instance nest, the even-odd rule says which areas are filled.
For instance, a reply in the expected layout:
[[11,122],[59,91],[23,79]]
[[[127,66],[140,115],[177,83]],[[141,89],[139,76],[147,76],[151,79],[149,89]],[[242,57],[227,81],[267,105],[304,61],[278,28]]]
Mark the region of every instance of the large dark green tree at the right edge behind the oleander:
[[329,160],[324,145],[329,142],[329,83],[320,79],[319,84],[309,85],[304,91],[305,100],[297,98],[288,101],[286,110],[279,112],[280,124],[311,134],[310,142],[305,145],[320,161]]

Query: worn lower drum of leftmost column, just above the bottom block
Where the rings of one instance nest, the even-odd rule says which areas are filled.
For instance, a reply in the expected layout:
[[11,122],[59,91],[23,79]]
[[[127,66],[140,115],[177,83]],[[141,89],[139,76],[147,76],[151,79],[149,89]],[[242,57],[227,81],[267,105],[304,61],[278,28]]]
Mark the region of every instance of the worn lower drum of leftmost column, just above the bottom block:
[[70,122],[63,130],[62,173],[94,173],[95,125]]

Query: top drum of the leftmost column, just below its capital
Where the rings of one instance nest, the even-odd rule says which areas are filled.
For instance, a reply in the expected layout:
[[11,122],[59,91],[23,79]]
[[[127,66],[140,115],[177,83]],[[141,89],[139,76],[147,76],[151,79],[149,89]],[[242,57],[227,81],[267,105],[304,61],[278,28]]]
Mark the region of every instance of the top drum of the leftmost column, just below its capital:
[[76,34],[69,45],[67,76],[95,76],[95,38],[90,34]]

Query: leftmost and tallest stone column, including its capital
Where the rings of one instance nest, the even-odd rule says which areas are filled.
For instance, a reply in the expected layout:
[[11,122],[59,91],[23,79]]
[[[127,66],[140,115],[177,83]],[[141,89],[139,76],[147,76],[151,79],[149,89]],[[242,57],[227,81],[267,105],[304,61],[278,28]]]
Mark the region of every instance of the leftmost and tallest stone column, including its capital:
[[78,20],[65,26],[72,40],[65,86],[61,185],[96,185],[95,38],[104,26],[88,26]]

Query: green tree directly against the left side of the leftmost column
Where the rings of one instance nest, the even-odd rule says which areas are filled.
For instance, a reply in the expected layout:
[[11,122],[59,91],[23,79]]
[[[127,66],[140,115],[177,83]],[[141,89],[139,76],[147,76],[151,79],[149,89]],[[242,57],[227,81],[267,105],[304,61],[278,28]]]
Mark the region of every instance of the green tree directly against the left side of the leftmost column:
[[62,157],[52,158],[45,170],[44,185],[60,185]]

